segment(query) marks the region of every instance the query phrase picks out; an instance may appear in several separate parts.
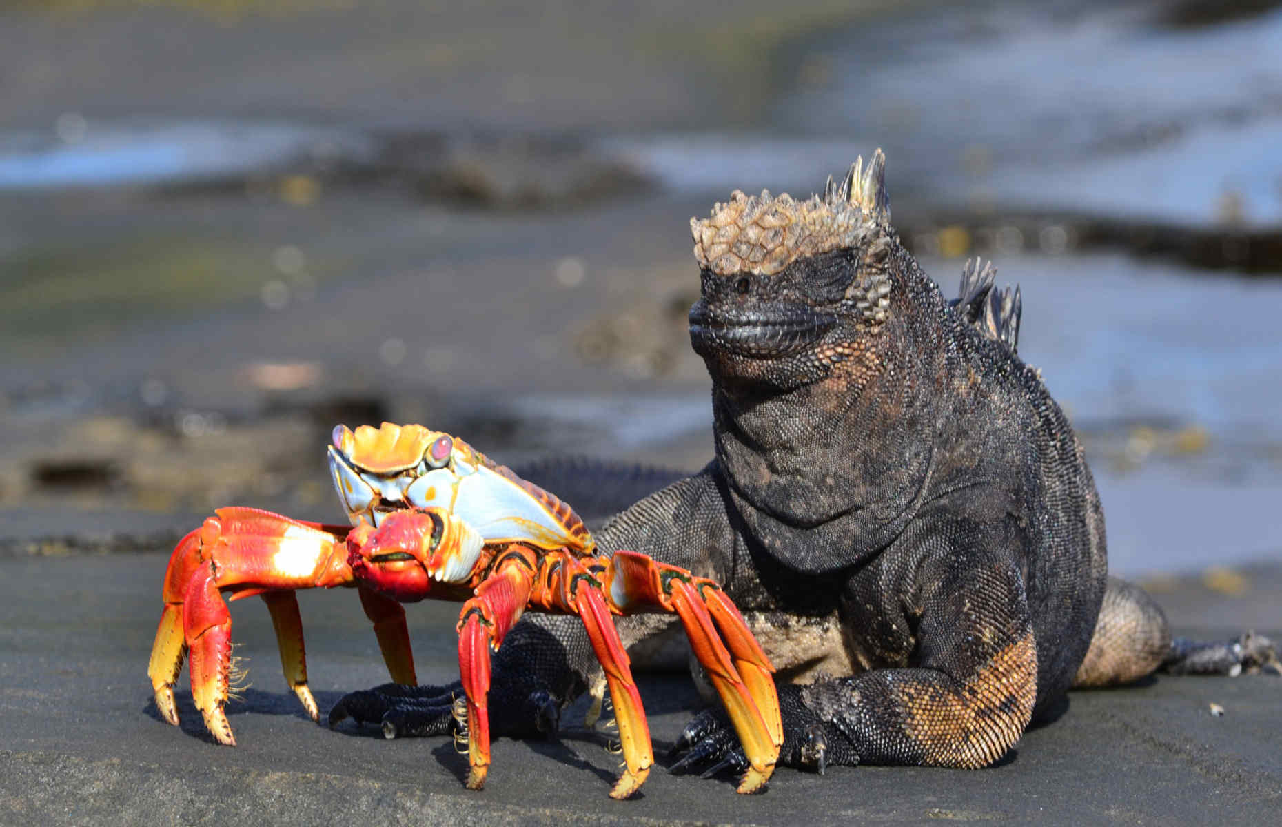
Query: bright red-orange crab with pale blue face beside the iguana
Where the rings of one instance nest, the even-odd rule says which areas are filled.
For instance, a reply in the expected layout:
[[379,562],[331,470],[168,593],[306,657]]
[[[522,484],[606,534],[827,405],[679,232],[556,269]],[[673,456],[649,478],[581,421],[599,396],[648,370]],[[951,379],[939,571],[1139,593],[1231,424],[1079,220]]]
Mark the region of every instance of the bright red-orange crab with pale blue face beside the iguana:
[[644,554],[597,553],[577,514],[554,495],[462,440],[422,426],[338,426],[335,486],[351,521],[328,526],[251,508],[222,508],[169,558],[149,676],[156,706],[178,723],[173,686],[191,655],[191,692],[205,726],[235,745],[223,712],[231,673],[231,600],[260,595],[276,627],[285,678],[313,721],[303,624],[294,591],[356,587],[397,683],[415,683],[401,603],[463,601],[459,668],[467,692],[467,785],[490,765],[490,651],[526,609],[578,615],[605,672],[624,771],[623,799],[654,763],[641,698],[612,614],[676,613],[733,722],[749,768],[740,792],[769,778],[783,741],[773,667],[738,610],[710,580]]

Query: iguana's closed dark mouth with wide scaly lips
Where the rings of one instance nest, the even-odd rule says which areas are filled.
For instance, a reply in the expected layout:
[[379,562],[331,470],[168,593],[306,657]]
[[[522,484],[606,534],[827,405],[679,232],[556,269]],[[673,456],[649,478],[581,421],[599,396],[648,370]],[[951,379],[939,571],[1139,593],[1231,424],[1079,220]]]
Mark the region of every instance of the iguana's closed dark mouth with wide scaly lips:
[[804,350],[836,323],[835,315],[797,304],[714,310],[696,301],[690,309],[690,344],[700,355],[732,353],[768,359]]

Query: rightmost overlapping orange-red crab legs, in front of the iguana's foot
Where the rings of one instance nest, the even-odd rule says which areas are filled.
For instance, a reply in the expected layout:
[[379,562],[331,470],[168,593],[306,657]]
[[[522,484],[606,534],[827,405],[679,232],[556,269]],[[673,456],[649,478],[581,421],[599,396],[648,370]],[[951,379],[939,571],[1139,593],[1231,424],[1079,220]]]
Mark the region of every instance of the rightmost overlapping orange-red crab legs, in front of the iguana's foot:
[[738,610],[712,581],[644,554],[615,551],[603,562],[609,564],[606,594],[619,612],[658,605],[681,618],[691,650],[717,689],[747,756],[749,769],[738,791],[760,790],[774,772],[783,724],[770,677],[774,667]]

